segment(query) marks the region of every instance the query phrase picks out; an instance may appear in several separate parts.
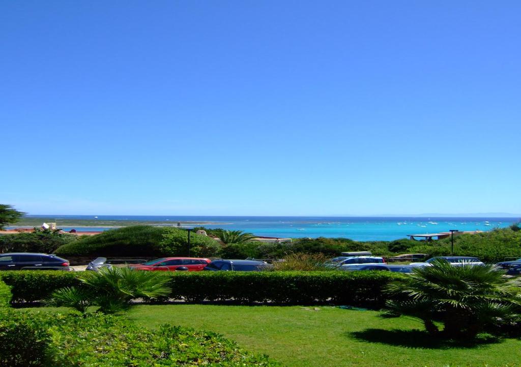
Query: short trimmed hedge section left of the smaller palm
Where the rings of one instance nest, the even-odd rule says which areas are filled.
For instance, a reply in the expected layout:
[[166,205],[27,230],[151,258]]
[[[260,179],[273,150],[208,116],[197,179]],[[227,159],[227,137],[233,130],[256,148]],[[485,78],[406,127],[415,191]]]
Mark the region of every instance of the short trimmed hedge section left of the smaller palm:
[[78,273],[68,271],[3,271],[0,272],[0,279],[11,287],[14,302],[41,301],[58,288],[80,284]]

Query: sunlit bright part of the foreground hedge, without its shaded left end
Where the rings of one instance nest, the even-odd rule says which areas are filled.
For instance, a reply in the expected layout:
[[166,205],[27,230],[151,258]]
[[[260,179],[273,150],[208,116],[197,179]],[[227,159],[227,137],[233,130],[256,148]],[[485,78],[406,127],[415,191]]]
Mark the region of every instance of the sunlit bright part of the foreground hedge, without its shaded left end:
[[49,352],[56,367],[275,366],[215,333],[162,325],[148,331],[121,318],[72,318],[69,332],[51,330]]

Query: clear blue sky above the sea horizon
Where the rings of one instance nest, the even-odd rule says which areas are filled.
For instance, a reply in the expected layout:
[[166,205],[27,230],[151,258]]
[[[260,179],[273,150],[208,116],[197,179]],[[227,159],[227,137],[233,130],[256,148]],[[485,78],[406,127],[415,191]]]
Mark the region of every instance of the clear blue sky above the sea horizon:
[[519,1],[4,1],[0,203],[521,212]]

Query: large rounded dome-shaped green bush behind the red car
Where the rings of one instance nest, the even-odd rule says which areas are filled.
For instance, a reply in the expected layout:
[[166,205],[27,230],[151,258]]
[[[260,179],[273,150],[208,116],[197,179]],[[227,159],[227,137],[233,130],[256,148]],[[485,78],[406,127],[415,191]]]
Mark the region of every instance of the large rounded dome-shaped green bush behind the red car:
[[[213,257],[220,244],[211,237],[192,233],[191,255]],[[187,256],[188,232],[172,227],[136,225],[85,236],[56,250],[60,256]]]

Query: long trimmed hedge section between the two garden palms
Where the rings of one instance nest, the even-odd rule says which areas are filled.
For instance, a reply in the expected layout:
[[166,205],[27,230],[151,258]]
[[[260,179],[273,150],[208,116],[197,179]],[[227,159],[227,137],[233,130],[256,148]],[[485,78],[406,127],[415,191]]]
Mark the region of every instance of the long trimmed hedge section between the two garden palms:
[[388,272],[286,271],[172,274],[171,298],[200,302],[313,305],[328,303],[380,308],[383,287],[401,274]]

